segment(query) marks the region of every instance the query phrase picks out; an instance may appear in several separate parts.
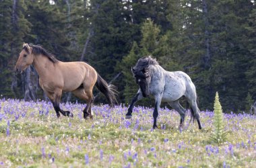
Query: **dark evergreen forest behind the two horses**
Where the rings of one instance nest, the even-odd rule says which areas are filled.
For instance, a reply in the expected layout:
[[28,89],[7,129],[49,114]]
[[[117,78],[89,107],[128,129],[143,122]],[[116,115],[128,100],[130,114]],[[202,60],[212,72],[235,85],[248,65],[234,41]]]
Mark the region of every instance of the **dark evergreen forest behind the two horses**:
[[[256,100],[251,0],[0,0],[0,95],[45,99],[33,67],[13,72],[23,42],[59,60],[88,62],[117,85],[120,103],[137,92],[130,69],[149,54],[164,69],[189,74],[201,110],[212,110],[216,91],[226,112],[248,112]],[[62,99],[76,101],[69,93]]]

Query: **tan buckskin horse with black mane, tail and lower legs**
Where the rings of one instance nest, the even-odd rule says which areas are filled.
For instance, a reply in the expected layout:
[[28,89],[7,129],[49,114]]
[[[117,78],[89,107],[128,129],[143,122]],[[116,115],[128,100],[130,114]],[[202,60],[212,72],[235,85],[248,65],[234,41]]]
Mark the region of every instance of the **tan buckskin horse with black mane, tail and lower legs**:
[[106,96],[110,107],[117,102],[115,86],[108,85],[86,62],[62,62],[42,46],[24,43],[15,71],[22,73],[29,65],[36,69],[39,85],[53,103],[57,118],[60,117],[59,112],[63,116],[73,117],[71,112],[59,108],[62,91],[71,91],[79,99],[86,101],[87,105],[83,110],[85,119],[93,118],[94,85]]

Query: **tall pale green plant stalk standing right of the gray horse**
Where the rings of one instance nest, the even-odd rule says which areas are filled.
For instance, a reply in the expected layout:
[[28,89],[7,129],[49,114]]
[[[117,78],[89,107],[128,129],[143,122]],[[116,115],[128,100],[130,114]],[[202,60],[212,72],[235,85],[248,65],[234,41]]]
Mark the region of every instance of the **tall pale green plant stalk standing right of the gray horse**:
[[214,101],[214,132],[211,139],[217,144],[221,144],[226,140],[226,135],[227,132],[224,131],[223,124],[222,106],[220,105],[220,99],[217,91]]

